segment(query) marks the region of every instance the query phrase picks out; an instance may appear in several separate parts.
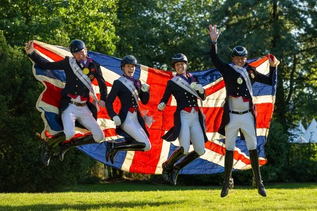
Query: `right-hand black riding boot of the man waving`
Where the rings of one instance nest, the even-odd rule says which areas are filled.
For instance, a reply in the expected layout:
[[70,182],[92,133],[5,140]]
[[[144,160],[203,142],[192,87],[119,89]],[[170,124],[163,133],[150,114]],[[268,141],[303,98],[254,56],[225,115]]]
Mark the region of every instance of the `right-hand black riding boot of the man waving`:
[[258,163],[258,153],[257,150],[250,150],[250,161],[252,166],[252,171],[255,179],[255,184],[257,188],[257,193],[261,196],[266,196],[266,191],[263,185],[263,181],[261,180],[261,173],[260,173],[260,165]]

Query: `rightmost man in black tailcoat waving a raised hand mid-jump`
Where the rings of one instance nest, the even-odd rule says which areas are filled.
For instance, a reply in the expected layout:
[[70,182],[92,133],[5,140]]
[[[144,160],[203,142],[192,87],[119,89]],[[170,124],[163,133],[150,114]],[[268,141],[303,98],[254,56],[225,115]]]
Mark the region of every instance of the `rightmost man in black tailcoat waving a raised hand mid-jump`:
[[247,49],[242,46],[237,46],[231,52],[233,64],[223,62],[218,57],[217,49],[217,39],[221,31],[217,32],[216,25],[209,25],[207,32],[209,33],[211,39],[211,61],[222,74],[227,92],[222,121],[218,130],[220,134],[226,136],[225,175],[220,196],[225,197],[229,193],[234,149],[236,146],[238,132],[240,130],[247,143],[252,170],[254,173],[254,181],[256,183],[258,193],[265,197],[266,191],[261,180],[258,153],[256,150],[256,110],[253,103],[254,96],[252,92],[252,85],[255,82],[272,85],[273,72],[276,70],[279,61],[273,55],[269,55],[269,76],[263,75],[257,72],[255,67],[251,66],[247,62]]

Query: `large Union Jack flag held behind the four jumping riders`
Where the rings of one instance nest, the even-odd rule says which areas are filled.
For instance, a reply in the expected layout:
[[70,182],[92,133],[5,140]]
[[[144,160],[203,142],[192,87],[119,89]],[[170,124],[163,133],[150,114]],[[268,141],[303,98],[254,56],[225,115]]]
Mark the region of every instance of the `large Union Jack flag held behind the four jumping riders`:
[[[70,56],[68,49],[48,45],[39,41],[34,41],[36,53],[43,56],[48,61],[58,61],[65,56]],[[89,56],[101,65],[103,76],[106,80],[108,93],[111,90],[114,80],[122,75],[120,67],[121,59],[101,53],[88,52]],[[251,59],[248,61],[256,67],[256,70],[267,74],[269,72],[268,55]],[[40,95],[36,107],[42,114],[44,121],[44,130],[41,133],[42,138],[56,135],[62,131],[61,126],[56,121],[61,101],[61,90],[64,87],[65,75],[63,70],[44,70],[38,65],[33,65],[33,73],[37,80],[41,81],[45,89]],[[205,154],[181,170],[181,174],[210,174],[219,173],[224,170],[225,137],[217,133],[221,123],[223,105],[226,97],[224,80],[216,68],[191,72],[198,77],[198,80],[206,90],[207,98],[203,102],[203,112],[206,114],[206,134],[208,142],[205,143]],[[148,128],[152,148],[148,152],[122,151],[116,156],[115,163],[105,160],[105,142],[90,144],[77,147],[90,157],[105,163],[106,165],[135,173],[161,174],[162,163],[179,147],[178,140],[166,142],[161,139],[172,126],[173,114],[176,109],[176,100],[172,97],[163,111],[157,109],[167,81],[173,78],[173,72],[163,71],[143,65],[136,67],[134,78],[140,79],[142,83],[150,85],[151,98],[147,105],[140,103],[141,110],[148,110],[148,115],[153,115],[156,120],[151,128]],[[93,81],[93,86],[99,95],[97,81]],[[256,135],[257,150],[259,152],[259,163],[264,165],[267,160],[264,154],[264,144],[267,141],[269,125],[273,113],[276,92],[276,73],[273,76],[273,86],[260,83],[253,85],[254,104],[256,105]],[[119,99],[114,102],[115,111],[120,109]],[[98,124],[103,129],[105,141],[119,141],[123,137],[115,133],[115,124],[110,119],[105,108],[100,108],[98,112]],[[89,131],[76,128],[75,137],[89,134]],[[193,150],[190,147],[190,151]],[[237,138],[234,152],[233,170],[243,170],[251,168],[249,151],[246,142]]]

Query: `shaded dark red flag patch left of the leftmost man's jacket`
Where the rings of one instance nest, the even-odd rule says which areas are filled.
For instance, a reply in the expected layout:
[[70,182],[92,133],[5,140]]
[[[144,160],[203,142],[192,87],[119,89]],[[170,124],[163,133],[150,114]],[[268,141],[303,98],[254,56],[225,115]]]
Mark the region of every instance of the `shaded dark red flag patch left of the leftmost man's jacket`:
[[62,95],[62,89],[59,87],[54,86],[53,84],[44,81],[47,89],[43,93],[42,101],[56,107],[60,107]]

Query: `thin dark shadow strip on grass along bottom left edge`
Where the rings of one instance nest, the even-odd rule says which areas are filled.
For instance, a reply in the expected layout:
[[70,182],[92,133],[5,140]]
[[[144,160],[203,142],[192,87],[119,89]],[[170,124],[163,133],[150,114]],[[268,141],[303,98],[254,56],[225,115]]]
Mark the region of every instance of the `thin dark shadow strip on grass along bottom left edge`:
[[62,209],[73,209],[73,210],[92,210],[92,209],[124,209],[124,208],[137,208],[137,207],[160,207],[169,206],[173,204],[183,203],[184,201],[177,202],[111,202],[111,203],[99,203],[99,204],[83,204],[82,205],[27,205],[27,206],[0,206],[0,210],[5,211],[24,211],[24,210],[41,210],[41,211],[52,211],[52,210],[62,210]]

